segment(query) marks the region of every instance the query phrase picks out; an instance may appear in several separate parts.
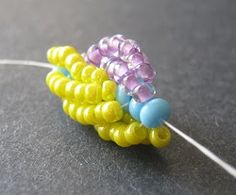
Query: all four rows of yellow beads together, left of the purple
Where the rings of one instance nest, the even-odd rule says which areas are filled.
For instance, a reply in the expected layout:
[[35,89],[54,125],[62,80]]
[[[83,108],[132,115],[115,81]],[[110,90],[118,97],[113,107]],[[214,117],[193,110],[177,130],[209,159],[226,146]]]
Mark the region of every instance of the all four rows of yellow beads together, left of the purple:
[[[122,147],[151,143],[161,148],[169,143],[170,132],[166,127],[146,128],[128,113],[123,114],[122,104],[115,99],[117,94],[124,99],[125,92],[122,95],[107,72],[87,64],[76,49],[53,47],[47,57],[57,68],[47,75],[46,83],[52,93],[62,98],[63,110],[72,119],[83,125],[95,125],[102,139]],[[127,118],[132,123],[127,123]]]

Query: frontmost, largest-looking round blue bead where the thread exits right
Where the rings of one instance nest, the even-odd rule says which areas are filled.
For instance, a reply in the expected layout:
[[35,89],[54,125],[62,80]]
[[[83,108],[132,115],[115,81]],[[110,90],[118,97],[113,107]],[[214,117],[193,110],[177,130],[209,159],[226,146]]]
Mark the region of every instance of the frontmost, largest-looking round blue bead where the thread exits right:
[[155,128],[170,116],[169,103],[161,98],[152,99],[142,107],[140,121],[147,128]]

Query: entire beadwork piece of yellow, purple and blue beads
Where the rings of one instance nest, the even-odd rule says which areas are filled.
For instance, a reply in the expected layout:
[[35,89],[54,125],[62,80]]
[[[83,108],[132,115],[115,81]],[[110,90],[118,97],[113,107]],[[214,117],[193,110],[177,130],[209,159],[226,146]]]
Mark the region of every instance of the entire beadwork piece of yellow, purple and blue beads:
[[169,143],[169,129],[162,125],[169,104],[154,98],[156,73],[135,41],[115,35],[82,55],[64,46],[49,49],[47,57],[55,69],[46,83],[72,119],[94,125],[103,140],[122,147]]

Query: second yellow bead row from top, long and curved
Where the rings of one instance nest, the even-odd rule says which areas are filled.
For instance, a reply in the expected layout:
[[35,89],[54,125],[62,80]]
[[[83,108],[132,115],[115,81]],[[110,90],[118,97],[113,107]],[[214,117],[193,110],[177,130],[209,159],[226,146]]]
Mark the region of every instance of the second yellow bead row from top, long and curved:
[[59,71],[52,71],[46,77],[49,89],[59,97],[75,99],[76,102],[84,104],[97,104],[103,101],[115,99],[116,84],[114,81],[107,80],[102,84],[80,83],[70,80]]

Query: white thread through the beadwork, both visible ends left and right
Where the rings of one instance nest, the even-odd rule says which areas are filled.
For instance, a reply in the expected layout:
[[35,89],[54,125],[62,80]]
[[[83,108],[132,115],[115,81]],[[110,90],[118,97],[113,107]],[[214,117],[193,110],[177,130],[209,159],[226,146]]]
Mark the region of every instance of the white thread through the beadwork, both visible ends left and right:
[[[37,62],[37,61],[28,61],[28,60],[8,60],[8,59],[0,59],[0,64],[3,65],[23,65],[23,66],[35,66],[35,67],[42,67],[42,68],[49,68],[53,69],[55,66],[44,63],[44,62]],[[122,105],[122,107],[127,106],[128,104]],[[220,159],[218,156],[216,156],[213,152],[208,150],[206,147],[195,141],[193,138],[189,137],[188,135],[184,134],[181,130],[177,129],[173,125],[171,125],[169,122],[164,121],[165,125],[168,126],[170,129],[172,129],[175,133],[177,133],[179,136],[184,138],[188,143],[192,144],[194,147],[196,147],[200,152],[205,154],[208,158],[210,158],[212,161],[214,161],[216,164],[218,164],[221,168],[223,168],[226,172],[228,172],[230,175],[232,175],[234,178],[236,178],[236,169],[231,166],[230,164],[226,163],[222,159]]]

